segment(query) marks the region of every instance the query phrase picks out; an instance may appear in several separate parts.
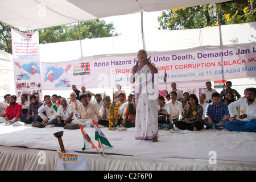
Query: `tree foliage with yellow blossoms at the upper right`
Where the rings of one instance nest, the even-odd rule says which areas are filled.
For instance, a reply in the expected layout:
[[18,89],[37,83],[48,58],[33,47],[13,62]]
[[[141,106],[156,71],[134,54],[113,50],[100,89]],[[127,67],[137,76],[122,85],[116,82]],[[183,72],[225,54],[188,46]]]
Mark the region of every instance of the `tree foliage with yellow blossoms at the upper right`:
[[[216,5],[200,5],[180,7],[162,11],[158,17],[160,28],[163,30],[181,30],[204,28],[220,24],[235,24],[255,22],[255,0],[218,5],[220,22],[217,18]],[[159,28],[159,29],[160,29]]]

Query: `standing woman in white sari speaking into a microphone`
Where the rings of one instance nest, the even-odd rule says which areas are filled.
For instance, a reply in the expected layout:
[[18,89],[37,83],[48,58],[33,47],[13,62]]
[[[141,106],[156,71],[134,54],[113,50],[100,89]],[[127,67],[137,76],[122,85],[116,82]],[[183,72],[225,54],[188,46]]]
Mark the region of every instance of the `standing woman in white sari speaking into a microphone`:
[[135,139],[158,142],[158,69],[150,63],[147,53],[140,50],[139,63],[134,65],[131,83],[135,82]]

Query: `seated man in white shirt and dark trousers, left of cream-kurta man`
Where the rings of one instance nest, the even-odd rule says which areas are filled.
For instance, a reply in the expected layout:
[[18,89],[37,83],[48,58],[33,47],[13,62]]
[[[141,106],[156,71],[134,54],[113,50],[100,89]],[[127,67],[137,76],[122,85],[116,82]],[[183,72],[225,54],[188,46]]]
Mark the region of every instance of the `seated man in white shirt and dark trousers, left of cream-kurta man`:
[[73,119],[74,107],[67,104],[65,98],[60,99],[60,106],[57,109],[56,119],[52,120],[52,125],[64,127],[67,123],[70,123]]

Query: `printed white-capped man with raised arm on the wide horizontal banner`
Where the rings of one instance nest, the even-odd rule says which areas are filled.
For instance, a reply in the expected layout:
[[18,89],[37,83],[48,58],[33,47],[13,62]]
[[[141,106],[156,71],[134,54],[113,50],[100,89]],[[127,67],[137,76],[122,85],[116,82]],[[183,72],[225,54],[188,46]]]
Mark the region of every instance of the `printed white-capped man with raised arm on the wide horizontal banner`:
[[62,73],[62,75],[54,80],[54,73],[53,71],[49,71],[47,73],[47,80],[44,82],[45,88],[55,88],[55,85],[60,84],[60,80],[63,80],[65,77],[67,77],[67,72],[71,68],[71,64],[67,65],[65,71]]

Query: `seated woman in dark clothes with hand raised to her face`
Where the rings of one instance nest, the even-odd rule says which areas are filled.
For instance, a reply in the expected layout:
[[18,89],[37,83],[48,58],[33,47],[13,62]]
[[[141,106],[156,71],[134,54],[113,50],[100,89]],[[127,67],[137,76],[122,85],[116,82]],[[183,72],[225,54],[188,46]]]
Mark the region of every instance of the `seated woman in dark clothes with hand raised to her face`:
[[175,122],[175,126],[180,130],[199,131],[204,127],[202,120],[203,113],[204,110],[199,104],[198,98],[195,94],[191,94],[182,112],[182,116],[185,119]]

